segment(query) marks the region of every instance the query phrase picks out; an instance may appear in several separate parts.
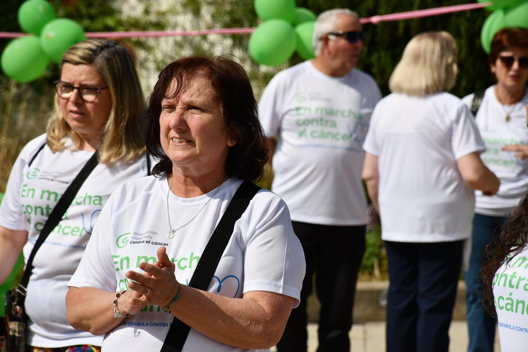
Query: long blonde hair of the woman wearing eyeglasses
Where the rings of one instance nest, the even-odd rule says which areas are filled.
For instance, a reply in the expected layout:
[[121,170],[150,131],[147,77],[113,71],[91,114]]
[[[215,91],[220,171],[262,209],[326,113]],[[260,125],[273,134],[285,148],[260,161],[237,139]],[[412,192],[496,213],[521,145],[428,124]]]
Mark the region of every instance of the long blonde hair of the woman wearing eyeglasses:
[[[93,64],[112,97],[112,107],[102,128],[98,147],[99,162],[110,163],[124,158],[126,162],[145,152],[140,115],[145,108],[143,92],[130,52],[119,43],[105,39],[88,39],[68,49],[61,62],[74,65]],[[55,97],[55,113],[48,121],[47,143],[53,153],[65,147],[64,137],[74,142],[72,150],[80,145],[81,135],[68,125],[62,116],[59,97]]]

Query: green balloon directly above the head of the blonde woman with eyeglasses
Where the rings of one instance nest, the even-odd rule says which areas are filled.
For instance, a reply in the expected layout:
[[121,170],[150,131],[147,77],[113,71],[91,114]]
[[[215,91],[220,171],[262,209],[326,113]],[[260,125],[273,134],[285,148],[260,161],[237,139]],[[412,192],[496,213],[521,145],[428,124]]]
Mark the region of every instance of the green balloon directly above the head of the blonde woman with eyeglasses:
[[61,63],[66,50],[84,39],[86,35],[81,25],[69,18],[51,21],[46,24],[40,35],[42,49],[56,63]]

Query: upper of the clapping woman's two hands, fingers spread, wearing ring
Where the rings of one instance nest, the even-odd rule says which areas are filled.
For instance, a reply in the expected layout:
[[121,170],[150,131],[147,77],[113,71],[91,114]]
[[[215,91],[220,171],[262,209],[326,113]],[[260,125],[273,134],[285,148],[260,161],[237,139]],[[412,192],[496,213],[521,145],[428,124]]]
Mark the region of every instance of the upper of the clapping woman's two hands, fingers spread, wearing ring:
[[135,271],[126,273],[126,277],[133,282],[128,287],[142,294],[140,298],[131,298],[129,303],[136,307],[145,307],[148,304],[156,304],[166,307],[180,288],[180,283],[174,276],[175,265],[167,256],[167,249],[159,247],[157,251],[158,261],[153,264],[141,263],[139,268],[146,274]]

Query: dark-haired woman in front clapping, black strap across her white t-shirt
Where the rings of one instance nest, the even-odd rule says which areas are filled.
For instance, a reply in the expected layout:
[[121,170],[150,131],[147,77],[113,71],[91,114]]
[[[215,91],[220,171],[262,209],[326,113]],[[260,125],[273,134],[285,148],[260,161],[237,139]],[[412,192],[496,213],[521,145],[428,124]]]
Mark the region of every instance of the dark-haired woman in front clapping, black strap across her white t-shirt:
[[[106,334],[109,351],[177,347],[182,331],[182,351],[274,346],[299,304],[305,262],[286,203],[250,184],[267,150],[246,72],[224,58],[178,59],[160,73],[146,119],[147,150],[160,161],[101,211],[69,282],[70,323]],[[232,216],[248,188],[249,206]],[[227,245],[215,266],[208,248],[219,228]],[[205,263],[212,271],[201,276]]]

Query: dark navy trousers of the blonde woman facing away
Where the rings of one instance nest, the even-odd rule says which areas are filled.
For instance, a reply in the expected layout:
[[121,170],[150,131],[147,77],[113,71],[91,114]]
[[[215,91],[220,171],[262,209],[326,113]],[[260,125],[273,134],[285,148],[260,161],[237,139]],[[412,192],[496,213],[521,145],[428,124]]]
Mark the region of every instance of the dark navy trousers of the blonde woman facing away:
[[447,352],[464,241],[385,241],[387,352]]

